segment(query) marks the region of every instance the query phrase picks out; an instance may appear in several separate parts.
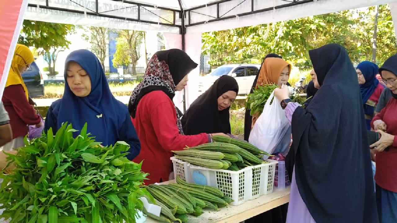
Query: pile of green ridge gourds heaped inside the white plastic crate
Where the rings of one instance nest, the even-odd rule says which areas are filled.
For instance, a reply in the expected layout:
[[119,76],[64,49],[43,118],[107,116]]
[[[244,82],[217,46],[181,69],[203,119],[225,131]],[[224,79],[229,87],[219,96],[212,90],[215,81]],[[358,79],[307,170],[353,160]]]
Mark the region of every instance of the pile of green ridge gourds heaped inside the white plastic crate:
[[172,151],[179,160],[211,169],[239,171],[248,166],[266,163],[262,158],[270,154],[248,142],[226,136],[213,136],[215,142]]

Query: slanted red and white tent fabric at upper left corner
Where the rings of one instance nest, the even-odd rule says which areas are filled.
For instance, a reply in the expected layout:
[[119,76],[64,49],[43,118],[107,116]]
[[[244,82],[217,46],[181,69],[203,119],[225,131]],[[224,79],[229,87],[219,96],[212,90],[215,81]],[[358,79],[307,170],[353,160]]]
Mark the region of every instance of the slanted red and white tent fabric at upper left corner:
[[27,0],[0,1],[0,98],[3,96]]

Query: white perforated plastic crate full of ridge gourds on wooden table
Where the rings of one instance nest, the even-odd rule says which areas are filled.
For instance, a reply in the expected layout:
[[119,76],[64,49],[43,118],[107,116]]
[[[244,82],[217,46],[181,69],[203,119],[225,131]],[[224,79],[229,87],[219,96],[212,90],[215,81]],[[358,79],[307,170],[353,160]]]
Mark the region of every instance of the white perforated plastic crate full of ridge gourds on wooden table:
[[198,183],[193,180],[193,174],[200,174],[205,178],[205,185],[219,188],[225,196],[233,199],[231,205],[239,205],[247,200],[272,193],[274,171],[278,162],[268,160],[270,163],[245,167],[239,171],[230,171],[191,165],[176,157],[172,157],[171,160],[175,177],[178,175],[188,183]]

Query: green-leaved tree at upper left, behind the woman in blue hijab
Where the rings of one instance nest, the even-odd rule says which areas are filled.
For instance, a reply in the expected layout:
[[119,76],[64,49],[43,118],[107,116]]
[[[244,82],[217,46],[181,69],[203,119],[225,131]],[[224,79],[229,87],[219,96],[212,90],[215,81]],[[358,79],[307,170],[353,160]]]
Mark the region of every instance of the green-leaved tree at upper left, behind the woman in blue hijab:
[[54,67],[58,53],[69,46],[66,37],[74,31],[74,25],[24,20],[18,42],[35,46],[38,55],[44,56],[48,63],[49,75],[56,75]]

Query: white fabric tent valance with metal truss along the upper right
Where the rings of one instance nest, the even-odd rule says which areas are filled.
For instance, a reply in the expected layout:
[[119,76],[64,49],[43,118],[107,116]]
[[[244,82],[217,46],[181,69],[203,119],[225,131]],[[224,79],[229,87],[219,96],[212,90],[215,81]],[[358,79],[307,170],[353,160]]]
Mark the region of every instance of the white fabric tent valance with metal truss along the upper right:
[[[241,1],[237,1],[237,2],[241,2]],[[265,10],[270,8],[270,11],[258,12],[244,16],[236,16],[236,15],[250,12],[252,6],[251,1],[245,1],[239,6],[237,6],[238,5],[237,2],[236,0],[234,0],[219,4],[220,17],[234,15],[233,18],[220,20],[220,21],[212,21],[212,22],[210,21],[211,19],[214,19],[217,16],[216,5],[200,8],[197,10],[192,10],[192,12],[190,12],[191,15],[190,21],[192,24],[200,21],[201,22],[210,21],[210,22],[187,27],[186,28],[187,33],[203,33],[203,32],[219,31],[225,29],[234,29],[238,27],[245,27],[252,25],[267,24],[278,21],[286,21],[290,19],[312,16],[312,15],[321,15],[331,12],[339,12],[342,10],[387,4],[387,3],[397,2],[397,0],[314,0],[313,2],[307,2],[303,4],[297,4],[278,9],[274,9],[274,8],[277,6],[283,6],[285,4],[288,4],[289,2],[282,0],[274,0],[274,1],[254,0],[253,1],[254,10]],[[231,11],[228,12],[229,10]],[[205,15],[198,14],[196,12]],[[222,16],[224,13],[226,14]],[[210,16],[206,16],[206,15],[210,15]],[[186,19],[186,21],[189,21],[189,19]],[[185,25],[188,25],[186,21],[185,21]]]

